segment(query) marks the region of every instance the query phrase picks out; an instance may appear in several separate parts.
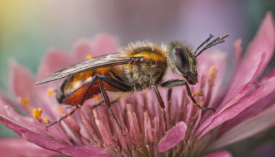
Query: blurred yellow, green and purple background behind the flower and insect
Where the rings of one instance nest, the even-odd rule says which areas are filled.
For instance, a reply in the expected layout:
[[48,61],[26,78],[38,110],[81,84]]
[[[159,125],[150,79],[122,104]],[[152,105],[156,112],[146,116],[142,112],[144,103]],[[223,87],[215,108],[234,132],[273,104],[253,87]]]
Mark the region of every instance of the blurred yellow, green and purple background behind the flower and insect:
[[[143,39],[199,45],[209,34],[230,34],[219,49],[233,58],[234,41],[241,38],[245,50],[267,11],[274,14],[274,0],[0,0],[0,88],[8,89],[9,59],[35,74],[47,48],[70,52],[74,41],[100,32],[115,36],[120,45]],[[250,156],[255,149],[275,147],[274,134],[273,128],[225,149]],[[17,135],[1,125],[0,136]]]

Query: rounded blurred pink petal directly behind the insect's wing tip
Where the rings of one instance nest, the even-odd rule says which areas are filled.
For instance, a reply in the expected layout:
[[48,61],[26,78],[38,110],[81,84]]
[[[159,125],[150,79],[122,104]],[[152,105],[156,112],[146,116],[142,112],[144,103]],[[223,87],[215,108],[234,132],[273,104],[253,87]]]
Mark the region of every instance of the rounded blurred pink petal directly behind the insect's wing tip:
[[74,63],[69,55],[62,50],[47,50],[39,66],[37,79],[43,79],[61,67]]

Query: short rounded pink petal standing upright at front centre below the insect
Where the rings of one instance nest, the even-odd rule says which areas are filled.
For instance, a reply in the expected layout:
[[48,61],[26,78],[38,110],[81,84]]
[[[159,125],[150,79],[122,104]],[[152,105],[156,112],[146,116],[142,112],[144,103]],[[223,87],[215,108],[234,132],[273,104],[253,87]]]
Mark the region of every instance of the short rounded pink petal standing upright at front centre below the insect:
[[184,140],[187,130],[187,125],[184,122],[179,122],[175,127],[169,129],[167,134],[160,140],[157,145],[159,152],[167,151],[170,148],[175,147],[181,140]]

